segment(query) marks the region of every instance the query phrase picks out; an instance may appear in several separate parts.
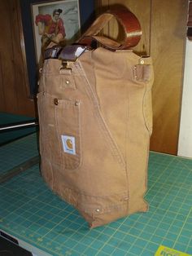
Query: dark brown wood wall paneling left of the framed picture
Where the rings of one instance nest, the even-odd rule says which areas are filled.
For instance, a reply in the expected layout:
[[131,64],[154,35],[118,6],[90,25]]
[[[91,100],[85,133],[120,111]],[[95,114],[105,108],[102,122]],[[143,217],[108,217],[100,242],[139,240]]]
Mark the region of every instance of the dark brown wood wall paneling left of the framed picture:
[[0,12],[0,112],[35,117],[22,55],[24,38],[19,1],[0,0]]

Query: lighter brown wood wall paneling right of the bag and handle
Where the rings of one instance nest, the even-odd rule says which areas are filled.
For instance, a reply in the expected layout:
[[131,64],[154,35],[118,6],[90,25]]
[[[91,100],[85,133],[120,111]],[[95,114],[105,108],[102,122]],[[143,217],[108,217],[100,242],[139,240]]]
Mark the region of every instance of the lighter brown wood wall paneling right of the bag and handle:
[[[128,7],[142,24],[142,40],[134,51],[151,55],[154,63],[151,150],[174,155],[181,115],[187,3],[183,0],[100,0],[106,9],[118,4]],[[116,29],[113,22],[104,33],[114,37]]]

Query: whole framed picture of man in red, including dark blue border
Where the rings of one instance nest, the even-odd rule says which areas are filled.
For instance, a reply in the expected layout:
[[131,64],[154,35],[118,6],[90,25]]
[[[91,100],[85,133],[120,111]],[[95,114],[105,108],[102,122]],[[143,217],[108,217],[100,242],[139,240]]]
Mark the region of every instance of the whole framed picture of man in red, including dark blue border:
[[[28,71],[29,97],[33,98],[37,94],[38,63],[43,34],[47,34],[47,38],[52,37],[51,39],[63,40],[64,44],[71,44],[94,21],[94,10],[94,0],[20,0],[24,34],[23,59]],[[58,15],[60,22],[56,29],[51,30],[49,22],[53,20],[54,14]],[[58,33],[59,29],[61,33]]]

